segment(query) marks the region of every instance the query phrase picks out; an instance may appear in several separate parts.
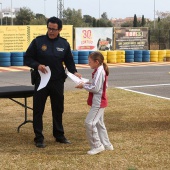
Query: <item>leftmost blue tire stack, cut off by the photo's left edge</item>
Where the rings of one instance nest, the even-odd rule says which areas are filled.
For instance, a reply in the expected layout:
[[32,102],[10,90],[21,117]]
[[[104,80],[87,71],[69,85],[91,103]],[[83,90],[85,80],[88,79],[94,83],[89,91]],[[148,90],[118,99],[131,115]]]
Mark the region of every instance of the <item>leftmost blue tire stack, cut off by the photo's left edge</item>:
[[11,53],[0,52],[0,67],[11,66]]

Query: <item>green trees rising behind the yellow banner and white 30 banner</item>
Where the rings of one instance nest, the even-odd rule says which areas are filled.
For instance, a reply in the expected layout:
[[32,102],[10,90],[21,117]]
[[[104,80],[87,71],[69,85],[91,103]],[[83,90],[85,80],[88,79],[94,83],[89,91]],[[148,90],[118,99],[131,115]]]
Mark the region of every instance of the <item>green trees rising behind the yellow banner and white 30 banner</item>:
[[[46,25],[46,18],[43,14],[34,14],[27,7],[20,8],[13,18],[13,25]],[[90,15],[83,15],[81,10],[67,8],[63,10],[64,25],[73,25],[74,27],[113,27],[113,23],[108,19],[107,13],[104,12],[101,18],[96,19]],[[4,17],[2,25],[11,25],[11,18]]]

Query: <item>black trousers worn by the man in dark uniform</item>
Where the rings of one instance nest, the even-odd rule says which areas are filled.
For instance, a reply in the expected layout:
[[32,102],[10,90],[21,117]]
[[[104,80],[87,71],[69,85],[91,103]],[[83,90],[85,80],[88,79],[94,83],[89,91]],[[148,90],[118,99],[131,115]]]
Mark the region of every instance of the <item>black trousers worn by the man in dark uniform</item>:
[[42,142],[43,136],[43,113],[47,97],[50,96],[52,120],[53,120],[53,136],[55,138],[64,137],[64,129],[62,124],[62,114],[64,112],[64,80],[50,80],[47,86],[39,91],[36,89],[39,81],[35,84],[35,93],[33,96],[33,129],[35,133],[35,142]]

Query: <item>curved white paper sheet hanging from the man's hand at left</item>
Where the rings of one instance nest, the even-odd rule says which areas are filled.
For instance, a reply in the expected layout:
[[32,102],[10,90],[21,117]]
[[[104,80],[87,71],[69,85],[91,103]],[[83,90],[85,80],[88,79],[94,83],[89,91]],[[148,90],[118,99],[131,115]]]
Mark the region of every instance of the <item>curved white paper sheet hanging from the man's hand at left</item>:
[[45,73],[45,74],[38,70],[40,77],[41,77],[41,81],[40,81],[40,85],[39,85],[37,91],[44,88],[50,80],[51,70],[50,70],[49,66],[46,66],[45,68],[47,70],[47,73]]

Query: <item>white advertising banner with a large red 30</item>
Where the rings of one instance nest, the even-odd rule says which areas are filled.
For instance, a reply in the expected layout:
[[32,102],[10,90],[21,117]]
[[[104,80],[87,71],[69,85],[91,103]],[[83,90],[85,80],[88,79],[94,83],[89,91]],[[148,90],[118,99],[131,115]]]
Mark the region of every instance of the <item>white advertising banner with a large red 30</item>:
[[113,28],[75,28],[75,49],[105,51],[113,49]]

